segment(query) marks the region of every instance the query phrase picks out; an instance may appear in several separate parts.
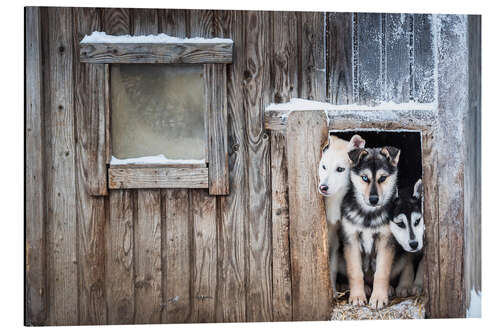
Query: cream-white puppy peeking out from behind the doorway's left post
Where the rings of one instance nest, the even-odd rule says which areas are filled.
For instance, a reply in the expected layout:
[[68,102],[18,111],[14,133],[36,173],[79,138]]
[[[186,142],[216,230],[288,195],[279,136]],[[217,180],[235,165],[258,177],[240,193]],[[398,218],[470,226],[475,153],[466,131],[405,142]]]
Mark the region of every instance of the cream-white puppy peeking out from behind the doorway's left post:
[[330,258],[330,279],[334,295],[337,294],[338,272],[338,226],[340,221],[340,205],[349,188],[349,157],[347,153],[356,148],[364,148],[365,140],[353,135],[350,141],[328,135],[322,147],[321,160],[318,166],[318,191],[325,198],[326,219],[328,222],[328,241]]

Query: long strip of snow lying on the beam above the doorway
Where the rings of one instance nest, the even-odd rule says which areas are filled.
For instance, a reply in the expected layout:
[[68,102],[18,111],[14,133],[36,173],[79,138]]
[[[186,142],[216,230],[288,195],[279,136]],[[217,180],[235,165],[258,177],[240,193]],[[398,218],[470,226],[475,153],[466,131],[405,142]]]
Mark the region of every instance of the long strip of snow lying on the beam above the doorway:
[[290,102],[270,104],[266,107],[266,111],[314,111],[314,110],[351,110],[351,111],[376,111],[376,110],[434,110],[435,103],[394,103],[383,102],[376,106],[359,105],[359,104],[344,104],[336,105],[325,102],[311,101],[301,98],[292,98]]

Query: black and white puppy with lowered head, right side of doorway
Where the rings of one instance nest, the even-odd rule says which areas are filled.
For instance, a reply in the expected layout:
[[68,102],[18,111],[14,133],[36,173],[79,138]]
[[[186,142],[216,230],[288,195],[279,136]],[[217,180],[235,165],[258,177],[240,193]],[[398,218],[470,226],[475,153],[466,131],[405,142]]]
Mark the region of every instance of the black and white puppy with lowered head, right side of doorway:
[[[396,240],[396,253],[391,280],[399,276],[396,295],[406,297],[420,294],[423,286],[422,247],[424,244],[424,218],[422,216],[422,180],[413,193],[402,190],[394,200],[390,228]],[[418,264],[414,275],[414,264]]]

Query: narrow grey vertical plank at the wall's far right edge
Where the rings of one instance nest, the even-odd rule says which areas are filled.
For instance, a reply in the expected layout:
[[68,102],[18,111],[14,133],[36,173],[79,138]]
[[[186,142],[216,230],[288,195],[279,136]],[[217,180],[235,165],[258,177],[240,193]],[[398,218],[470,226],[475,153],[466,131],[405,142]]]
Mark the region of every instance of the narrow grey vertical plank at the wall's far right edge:
[[465,116],[465,306],[481,291],[481,16],[467,16],[469,108]]

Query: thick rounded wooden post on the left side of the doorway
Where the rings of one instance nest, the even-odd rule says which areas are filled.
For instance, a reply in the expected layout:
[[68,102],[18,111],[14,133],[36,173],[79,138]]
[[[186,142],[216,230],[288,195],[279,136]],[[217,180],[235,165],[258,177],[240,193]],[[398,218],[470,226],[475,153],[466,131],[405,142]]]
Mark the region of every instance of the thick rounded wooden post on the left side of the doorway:
[[332,311],[325,207],[316,190],[326,121],[322,111],[296,111],[287,122],[293,320],[328,320]]

